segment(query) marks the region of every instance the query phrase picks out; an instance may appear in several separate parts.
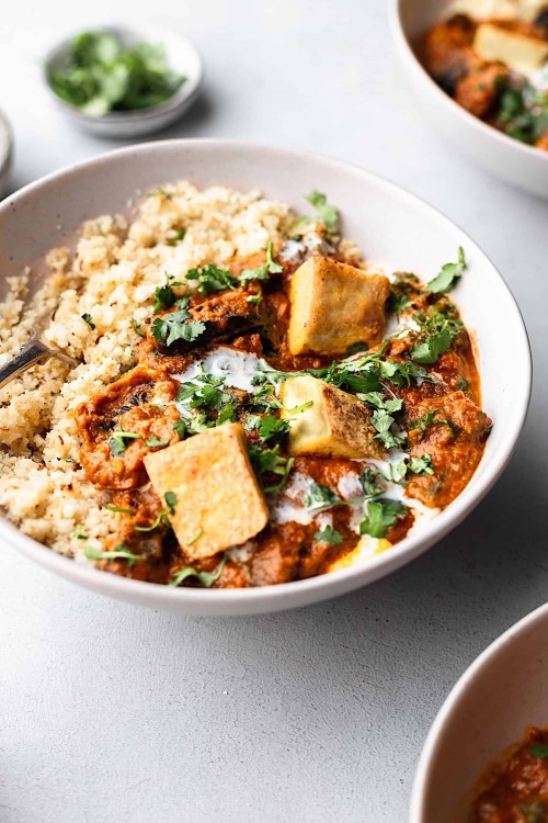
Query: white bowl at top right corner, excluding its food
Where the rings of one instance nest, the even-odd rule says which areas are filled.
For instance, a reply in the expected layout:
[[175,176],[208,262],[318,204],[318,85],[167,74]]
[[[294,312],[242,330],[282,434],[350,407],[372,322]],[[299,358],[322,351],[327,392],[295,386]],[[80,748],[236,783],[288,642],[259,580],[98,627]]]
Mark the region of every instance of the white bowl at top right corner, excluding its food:
[[469,114],[434,82],[416,57],[422,35],[447,15],[450,0],[390,0],[390,22],[403,71],[416,99],[448,142],[494,174],[548,198],[548,151],[527,146]]

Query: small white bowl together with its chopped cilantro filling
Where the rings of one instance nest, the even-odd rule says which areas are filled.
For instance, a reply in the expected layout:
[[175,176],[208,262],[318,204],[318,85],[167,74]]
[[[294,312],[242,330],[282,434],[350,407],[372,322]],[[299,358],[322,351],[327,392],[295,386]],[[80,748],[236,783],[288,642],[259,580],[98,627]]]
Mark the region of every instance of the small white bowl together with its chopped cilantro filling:
[[45,78],[64,113],[105,137],[134,137],[172,123],[196,98],[202,60],[172,32],[109,26],[54,48]]

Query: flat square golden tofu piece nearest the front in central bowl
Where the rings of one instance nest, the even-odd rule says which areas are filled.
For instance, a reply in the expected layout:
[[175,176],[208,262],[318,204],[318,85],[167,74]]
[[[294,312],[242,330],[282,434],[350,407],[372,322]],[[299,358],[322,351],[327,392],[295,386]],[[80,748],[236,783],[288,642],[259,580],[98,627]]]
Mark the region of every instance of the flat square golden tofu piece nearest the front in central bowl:
[[210,557],[266,526],[269,507],[251,467],[240,424],[225,424],[145,458],[160,497],[176,497],[171,526],[185,555]]

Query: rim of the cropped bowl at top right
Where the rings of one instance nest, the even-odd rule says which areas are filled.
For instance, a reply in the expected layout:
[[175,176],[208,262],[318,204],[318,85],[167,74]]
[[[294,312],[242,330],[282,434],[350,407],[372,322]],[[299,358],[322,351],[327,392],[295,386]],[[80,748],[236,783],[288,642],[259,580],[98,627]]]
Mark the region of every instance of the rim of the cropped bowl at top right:
[[439,86],[429,75],[429,72],[418,58],[403,29],[401,19],[402,8],[404,3],[409,2],[410,0],[389,0],[389,25],[392,32],[392,38],[396,41],[396,45],[400,54],[402,55],[407,65],[411,67],[414,76],[423,84],[426,93],[431,94],[432,99],[437,100],[442,105],[444,105],[446,111],[453,112],[455,115],[460,116],[465,123],[468,123],[470,127],[478,128],[484,137],[491,137],[492,139],[499,142],[502,147],[505,146],[507,149],[513,148],[517,153],[521,153],[524,157],[528,157],[529,159],[536,158],[537,162],[548,164],[548,151],[543,151],[541,149],[535,148],[535,146],[529,146],[526,143],[522,143],[514,137],[504,134],[504,132],[499,132],[493,126],[490,126],[479,117],[475,117],[473,114],[470,114],[470,112],[467,112],[466,109],[463,109],[461,105],[459,105],[455,100],[453,100],[453,98],[450,98],[448,94],[446,94],[445,91],[443,91],[443,89],[439,88]]

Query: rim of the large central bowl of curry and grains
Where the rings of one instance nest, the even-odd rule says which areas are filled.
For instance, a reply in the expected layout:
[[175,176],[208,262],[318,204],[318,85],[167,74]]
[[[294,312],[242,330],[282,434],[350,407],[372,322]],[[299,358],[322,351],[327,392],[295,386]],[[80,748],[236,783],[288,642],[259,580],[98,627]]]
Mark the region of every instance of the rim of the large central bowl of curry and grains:
[[[289,161],[293,160],[298,162],[313,160],[316,164],[323,166],[326,169],[334,170],[335,172],[352,172],[352,174],[364,181],[365,183],[374,183],[388,190],[393,196],[402,199],[406,203],[411,205],[414,210],[419,210],[423,214],[429,215],[430,219],[437,222],[439,225],[449,227],[452,230],[457,229],[466,243],[473,248],[475,253],[479,258],[482,258],[484,264],[491,268],[492,272],[500,280],[501,288],[505,292],[507,301],[507,311],[513,315],[513,327],[515,336],[513,338],[515,348],[518,348],[522,352],[522,369],[521,369],[521,394],[515,398],[515,417],[513,429],[505,430],[504,442],[501,444],[495,453],[492,453],[490,458],[489,471],[473,484],[475,477],[471,478],[470,483],[460,493],[460,495],[439,515],[424,526],[423,529],[418,530],[411,537],[404,538],[398,543],[397,551],[395,552],[383,552],[378,555],[374,555],[364,565],[350,566],[349,568],[339,570],[329,574],[319,575],[317,577],[305,578],[301,580],[292,580],[288,583],[281,583],[263,587],[250,587],[246,589],[206,589],[202,590],[198,588],[179,588],[170,587],[156,583],[148,583],[144,580],[135,580],[127,577],[121,577],[118,575],[109,574],[103,571],[90,566],[87,564],[79,564],[71,557],[57,554],[52,549],[43,543],[27,537],[19,530],[11,521],[9,521],[3,515],[0,514],[0,540],[5,539],[13,548],[21,551],[23,554],[34,560],[38,564],[50,568],[57,574],[69,577],[77,583],[89,586],[91,588],[102,589],[104,594],[111,594],[114,597],[118,597],[118,593],[133,591],[136,598],[146,600],[147,597],[150,602],[158,602],[162,600],[164,602],[185,602],[190,611],[194,613],[237,613],[233,611],[236,605],[241,605],[243,611],[241,613],[251,611],[270,611],[276,609],[292,608],[296,605],[305,605],[308,602],[316,602],[318,600],[329,599],[340,594],[351,591],[356,588],[361,588],[369,583],[390,574],[392,571],[397,571],[401,566],[409,563],[411,560],[418,557],[420,554],[426,551],[432,544],[438,542],[445,534],[447,534],[480,503],[486,494],[494,485],[504,467],[506,466],[512,453],[517,443],[520,433],[522,431],[527,409],[530,399],[532,392],[532,375],[533,375],[533,362],[530,345],[527,336],[525,323],[513,296],[509,285],[499,272],[496,267],[492,263],[489,257],[480,249],[480,247],[472,240],[469,235],[464,232],[456,223],[449,219],[447,216],[442,214],[437,208],[431,206],[421,198],[412,194],[402,187],[383,178],[372,171],[363,169],[362,167],[349,164],[342,160],[326,157],[308,151],[299,151],[295,149],[285,149],[272,146],[261,146],[256,144],[249,144],[238,140],[224,140],[224,139],[165,139],[165,140],[151,140],[149,143],[141,143],[135,146],[126,146],[123,148],[102,153],[91,159],[83,160],[72,166],[68,166],[64,169],[49,173],[39,180],[20,189],[18,192],[8,196],[2,203],[0,203],[0,219],[3,212],[13,208],[19,200],[32,196],[35,192],[47,189],[49,185],[55,184],[59,180],[67,180],[72,176],[78,176],[80,171],[90,170],[94,167],[107,166],[111,162],[116,162],[119,157],[134,156],[135,158],[146,156],[147,153],[162,151],[164,148],[176,148],[191,149],[197,151],[219,151],[219,150],[232,150],[238,153],[244,153],[247,157],[255,153],[263,156],[274,155],[279,159]],[[484,458],[483,458],[484,460]],[[470,492],[470,485],[473,486]],[[96,584],[96,585],[94,585]],[[142,596],[142,597],[141,597]],[[277,601],[284,600],[284,596],[287,596],[289,602],[285,605]],[[122,596],[122,599],[124,598]],[[210,608],[214,607],[214,608]],[[224,612],[224,609],[226,611]]]

